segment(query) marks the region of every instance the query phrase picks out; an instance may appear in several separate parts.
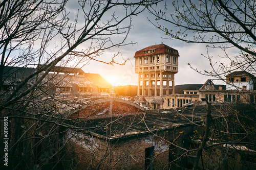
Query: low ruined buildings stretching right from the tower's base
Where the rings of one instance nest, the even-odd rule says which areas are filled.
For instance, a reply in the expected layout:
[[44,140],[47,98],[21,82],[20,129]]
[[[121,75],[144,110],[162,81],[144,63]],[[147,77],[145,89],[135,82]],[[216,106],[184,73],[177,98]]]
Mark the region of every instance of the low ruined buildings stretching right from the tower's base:
[[[234,86],[230,85],[231,75],[238,75],[237,77],[232,76],[232,80],[234,78],[236,81]],[[166,95],[164,96],[164,108],[182,107],[184,104],[186,106],[187,103],[195,104],[201,101],[202,98],[215,103],[256,102],[256,90],[252,90],[256,83],[254,83],[255,78],[251,74],[242,74],[242,78],[245,80],[243,82],[241,82],[241,71],[235,71],[226,77],[226,85],[218,85],[217,87],[212,80],[208,79],[199,90],[184,90],[184,94]]]

